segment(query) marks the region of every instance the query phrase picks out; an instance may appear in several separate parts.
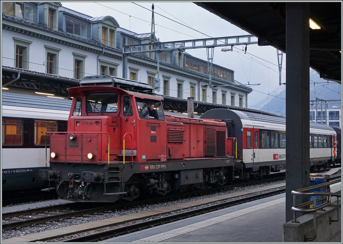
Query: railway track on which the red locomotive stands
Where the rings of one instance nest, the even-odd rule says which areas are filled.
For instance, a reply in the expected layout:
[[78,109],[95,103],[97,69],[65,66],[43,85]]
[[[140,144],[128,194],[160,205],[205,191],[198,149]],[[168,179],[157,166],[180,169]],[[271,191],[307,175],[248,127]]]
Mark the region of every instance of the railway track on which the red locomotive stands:
[[[94,207],[95,204],[93,205],[92,203],[87,203],[86,204],[87,207],[84,208],[83,203],[70,203],[70,204],[63,204],[63,205],[57,205],[57,206],[47,206],[47,207],[42,207],[42,208],[3,213],[2,214],[2,230],[26,227],[32,224],[51,222],[51,221],[56,221],[56,220],[61,220],[61,219],[68,219],[71,217],[78,217],[82,215],[93,214],[94,212],[103,212],[103,211],[109,211],[109,210],[114,210],[114,209],[133,207],[133,206],[142,205],[142,204],[163,202],[166,200],[184,198],[184,197],[188,197],[192,195],[206,194],[206,193],[215,192],[215,191],[223,191],[223,190],[227,190],[227,189],[235,188],[235,187],[248,186],[248,185],[254,185],[254,184],[259,184],[259,183],[264,183],[264,182],[285,179],[284,173],[281,173],[281,174],[278,173],[278,174],[273,174],[273,175],[274,177],[270,179],[238,183],[238,184],[221,186],[221,187],[216,187],[216,188],[198,190],[194,192],[185,192],[185,193],[180,193],[180,194],[157,197],[153,199],[149,198],[149,199],[144,199],[144,200],[132,201],[129,203],[125,202],[125,203],[116,204],[116,205],[105,204],[105,206],[103,205],[101,207]],[[90,205],[91,205],[91,208],[90,208]]]

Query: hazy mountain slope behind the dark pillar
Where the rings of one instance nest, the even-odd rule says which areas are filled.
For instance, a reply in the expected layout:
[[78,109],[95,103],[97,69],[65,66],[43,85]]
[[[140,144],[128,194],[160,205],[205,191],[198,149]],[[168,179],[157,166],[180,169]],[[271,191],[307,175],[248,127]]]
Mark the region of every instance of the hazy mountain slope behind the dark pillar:
[[[260,102],[257,102],[253,106],[260,107],[260,110],[264,112],[286,116],[286,100],[284,100],[286,98],[285,87],[275,89],[270,95],[272,96],[267,96],[260,101],[265,104],[263,107],[261,107]],[[316,100],[316,97],[323,100],[341,100],[341,96],[341,84],[323,80],[319,77],[317,71],[310,69],[310,100]],[[329,104],[328,108],[332,106],[340,108],[341,104]],[[256,109],[255,107],[251,108]]]

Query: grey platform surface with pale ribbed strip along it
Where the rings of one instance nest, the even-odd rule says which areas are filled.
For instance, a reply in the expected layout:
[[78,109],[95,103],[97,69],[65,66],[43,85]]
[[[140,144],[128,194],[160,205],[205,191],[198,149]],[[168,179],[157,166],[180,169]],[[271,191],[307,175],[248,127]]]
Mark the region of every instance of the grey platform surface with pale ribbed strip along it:
[[[339,191],[341,184],[331,186]],[[282,242],[285,194],[221,209],[102,242]]]

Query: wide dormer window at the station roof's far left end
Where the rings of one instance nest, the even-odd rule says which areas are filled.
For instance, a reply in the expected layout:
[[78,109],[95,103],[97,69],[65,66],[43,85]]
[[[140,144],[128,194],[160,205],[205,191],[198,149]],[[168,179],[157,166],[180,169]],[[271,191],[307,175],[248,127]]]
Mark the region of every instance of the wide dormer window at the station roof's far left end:
[[2,12],[22,19],[35,21],[35,7],[27,3],[3,2]]

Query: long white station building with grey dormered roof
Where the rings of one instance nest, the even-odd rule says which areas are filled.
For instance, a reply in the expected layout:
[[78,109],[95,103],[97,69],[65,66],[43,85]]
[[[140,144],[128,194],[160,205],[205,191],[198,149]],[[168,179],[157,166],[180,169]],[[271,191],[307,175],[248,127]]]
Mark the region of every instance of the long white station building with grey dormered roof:
[[[151,41],[159,39],[121,28],[112,16],[92,17],[60,2],[2,2],[2,90],[68,99],[66,88],[85,76],[125,77],[123,45]],[[212,85],[231,86],[211,89],[202,87],[209,84],[206,60],[183,50],[159,56],[159,89],[153,52],[129,55],[126,77],[166,97],[247,108],[252,89],[235,81],[233,70],[213,64]]]

